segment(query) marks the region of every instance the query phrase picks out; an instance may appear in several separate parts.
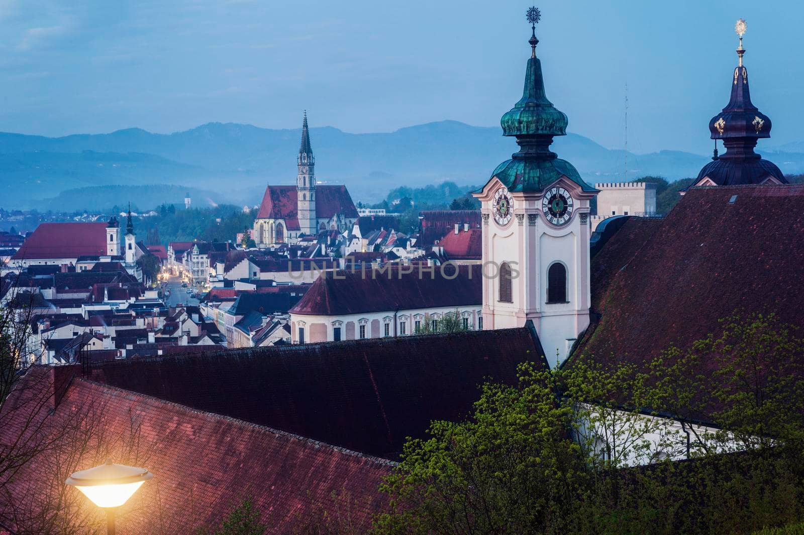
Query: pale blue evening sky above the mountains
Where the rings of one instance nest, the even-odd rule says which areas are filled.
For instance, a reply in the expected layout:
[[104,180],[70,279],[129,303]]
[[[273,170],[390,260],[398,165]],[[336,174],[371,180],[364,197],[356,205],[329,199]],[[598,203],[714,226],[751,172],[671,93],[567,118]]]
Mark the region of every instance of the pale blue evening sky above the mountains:
[[[445,119],[498,126],[521,96],[528,6],[0,0],[0,131],[290,129],[304,109],[312,127],[350,133]],[[753,103],[773,120],[762,146],[804,138],[804,2],[538,6],[537,55],[570,132],[635,153],[709,153],[708,120],[728,103],[742,17]]]

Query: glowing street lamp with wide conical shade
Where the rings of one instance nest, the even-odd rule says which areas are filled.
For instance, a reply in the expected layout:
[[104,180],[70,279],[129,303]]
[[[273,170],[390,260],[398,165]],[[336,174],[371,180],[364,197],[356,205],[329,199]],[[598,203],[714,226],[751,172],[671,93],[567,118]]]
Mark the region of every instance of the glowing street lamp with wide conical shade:
[[114,535],[114,513],[125,504],[137,488],[154,477],[146,468],[114,464],[107,459],[105,464],[74,472],[65,481],[72,485],[100,508],[106,509],[106,533]]

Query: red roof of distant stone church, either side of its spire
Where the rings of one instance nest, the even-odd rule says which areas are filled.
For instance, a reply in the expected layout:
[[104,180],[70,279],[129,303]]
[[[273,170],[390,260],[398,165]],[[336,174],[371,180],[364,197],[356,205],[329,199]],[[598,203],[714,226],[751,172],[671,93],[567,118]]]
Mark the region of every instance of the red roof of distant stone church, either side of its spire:
[[[316,186],[315,211],[318,218],[331,218],[334,214],[343,214],[347,218],[356,218],[357,209],[352,202],[346,186]],[[268,186],[260,204],[257,218],[285,219],[289,231],[297,231],[299,227],[296,186]]]

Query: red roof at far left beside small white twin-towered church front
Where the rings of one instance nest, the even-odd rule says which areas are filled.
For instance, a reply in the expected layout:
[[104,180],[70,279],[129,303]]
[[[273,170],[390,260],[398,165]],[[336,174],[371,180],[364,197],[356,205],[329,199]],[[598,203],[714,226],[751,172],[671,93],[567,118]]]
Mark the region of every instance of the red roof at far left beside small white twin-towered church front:
[[106,223],[39,223],[12,260],[106,254]]

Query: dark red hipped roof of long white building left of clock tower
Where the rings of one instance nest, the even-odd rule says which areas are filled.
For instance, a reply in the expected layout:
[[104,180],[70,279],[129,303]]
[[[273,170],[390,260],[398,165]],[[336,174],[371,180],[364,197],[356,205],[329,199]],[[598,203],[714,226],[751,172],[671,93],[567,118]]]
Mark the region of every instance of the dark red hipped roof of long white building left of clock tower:
[[337,276],[319,276],[290,312],[334,316],[412,308],[479,306],[482,300],[480,265],[450,265],[443,270],[434,267],[432,273],[426,267],[388,265],[384,271],[366,267],[339,271]]

